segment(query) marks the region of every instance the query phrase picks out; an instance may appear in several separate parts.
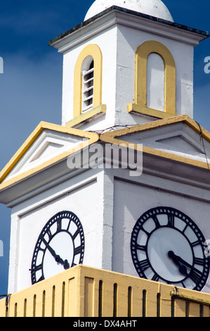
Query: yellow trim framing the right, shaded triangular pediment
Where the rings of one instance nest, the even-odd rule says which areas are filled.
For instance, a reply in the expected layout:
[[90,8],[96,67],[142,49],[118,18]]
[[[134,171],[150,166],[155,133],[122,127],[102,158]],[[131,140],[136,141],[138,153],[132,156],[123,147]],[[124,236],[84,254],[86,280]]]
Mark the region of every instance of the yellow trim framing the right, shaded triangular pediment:
[[[131,135],[132,133],[136,133],[136,132],[143,132],[145,130],[152,130],[157,127],[163,127],[166,125],[181,123],[181,122],[185,123],[186,125],[191,127],[192,130],[195,130],[195,132],[200,134],[199,125],[195,122],[195,120],[192,120],[190,117],[188,117],[188,115],[177,115],[177,116],[173,116],[173,118],[165,118],[163,120],[156,120],[150,123],[134,125],[133,127],[126,127],[125,129],[121,129],[121,130],[105,132],[100,135],[100,141],[110,144],[118,144],[118,145],[126,144],[126,146],[130,148],[132,144],[130,142],[126,142],[125,140],[119,139],[119,137],[124,135]],[[204,128],[202,128],[202,137],[204,137],[204,139],[210,142],[210,132],[206,131]],[[133,149],[137,149],[136,144],[133,144]],[[206,162],[197,161],[192,158],[185,158],[184,156],[179,156],[177,154],[172,154],[166,151],[159,151],[157,149],[152,149],[150,147],[143,146],[143,153],[159,156],[162,158],[168,158],[172,161],[194,165],[196,167],[209,170],[209,165]]]

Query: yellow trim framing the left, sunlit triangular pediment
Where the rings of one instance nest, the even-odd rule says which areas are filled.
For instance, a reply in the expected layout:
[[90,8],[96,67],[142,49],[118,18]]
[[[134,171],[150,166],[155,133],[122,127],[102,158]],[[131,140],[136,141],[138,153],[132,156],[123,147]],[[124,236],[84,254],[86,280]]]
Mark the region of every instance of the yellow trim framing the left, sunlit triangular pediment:
[[[20,158],[24,156],[24,154],[27,152],[30,146],[35,142],[37,137],[41,135],[41,132],[44,131],[45,129],[48,130],[53,130],[57,132],[63,132],[69,135],[75,135],[77,137],[84,137],[88,138],[86,142],[82,142],[81,144],[75,146],[73,149],[70,149],[69,151],[65,151],[63,154],[60,154],[58,156],[55,156],[51,158],[50,160],[42,163],[41,165],[37,165],[36,167],[29,169],[25,171],[24,173],[21,173],[20,175],[17,175],[10,180],[6,180],[3,182],[3,180],[6,178],[6,176],[11,172],[11,170],[14,168],[14,166],[20,161]],[[6,166],[1,170],[0,173],[0,190],[4,189],[10,185],[13,185],[15,182],[18,182],[25,177],[28,177],[29,175],[33,175],[34,173],[37,173],[44,168],[52,165],[53,163],[57,163],[63,158],[67,158],[67,156],[70,156],[73,154],[75,151],[78,151],[79,149],[83,149],[84,147],[88,146],[89,144],[93,144],[94,142],[98,141],[98,135],[93,133],[93,132],[86,132],[82,130],[77,130],[73,128],[67,128],[63,127],[62,125],[55,125],[51,123],[46,123],[46,122],[41,122],[39,125],[36,127],[36,129],[32,132],[31,135],[27,138],[27,140],[22,144],[20,149],[15,153],[15,155],[11,158],[11,160],[6,164]]]

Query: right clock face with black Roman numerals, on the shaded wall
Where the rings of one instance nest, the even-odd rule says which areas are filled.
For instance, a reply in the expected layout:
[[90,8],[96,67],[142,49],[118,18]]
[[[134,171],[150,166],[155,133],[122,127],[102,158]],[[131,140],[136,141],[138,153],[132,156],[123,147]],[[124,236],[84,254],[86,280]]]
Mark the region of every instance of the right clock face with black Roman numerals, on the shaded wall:
[[202,232],[184,213],[157,207],[133,227],[131,256],[140,277],[188,289],[201,289],[209,277]]

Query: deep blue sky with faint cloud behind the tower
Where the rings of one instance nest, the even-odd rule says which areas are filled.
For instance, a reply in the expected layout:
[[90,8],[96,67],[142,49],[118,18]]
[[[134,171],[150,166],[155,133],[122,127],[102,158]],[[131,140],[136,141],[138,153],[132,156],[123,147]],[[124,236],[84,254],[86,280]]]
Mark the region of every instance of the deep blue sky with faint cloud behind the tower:
[[[210,32],[206,0],[163,0],[176,23]],[[35,127],[45,120],[61,123],[63,58],[48,41],[84,20],[92,0],[0,0],[0,168]],[[210,37],[195,47],[194,118],[210,131]],[[11,211],[0,204],[0,295],[7,293]]]

